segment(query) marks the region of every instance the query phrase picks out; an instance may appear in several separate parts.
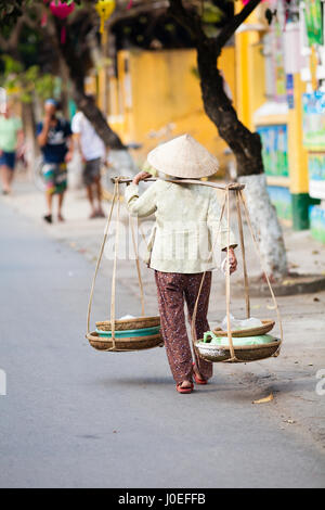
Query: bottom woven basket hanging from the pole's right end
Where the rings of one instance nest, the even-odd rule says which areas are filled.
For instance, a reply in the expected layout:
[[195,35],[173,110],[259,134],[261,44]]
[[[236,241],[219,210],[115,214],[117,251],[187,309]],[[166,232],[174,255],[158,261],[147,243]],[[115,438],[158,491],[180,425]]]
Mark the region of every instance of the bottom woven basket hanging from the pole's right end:
[[[198,342],[199,341],[197,341],[195,345],[203,359],[218,362],[226,361],[231,358],[230,347],[224,345],[210,345],[208,343],[198,345]],[[236,346],[234,347],[234,352],[237,359],[232,362],[258,361],[259,359],[270,358],[275,355],[281,344],[281,340],[276,340],[270,344]]]

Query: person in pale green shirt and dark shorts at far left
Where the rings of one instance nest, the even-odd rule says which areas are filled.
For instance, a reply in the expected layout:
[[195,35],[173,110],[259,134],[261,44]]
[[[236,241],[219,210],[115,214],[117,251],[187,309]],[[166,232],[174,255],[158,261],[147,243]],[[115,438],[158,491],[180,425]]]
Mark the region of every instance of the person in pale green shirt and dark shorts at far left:
[[23,141],[22,119],[12,115],[11,106],[6,104],[3,114],[0,115],[0,173],[3,194],[11,192],[16,149],[23,144]]

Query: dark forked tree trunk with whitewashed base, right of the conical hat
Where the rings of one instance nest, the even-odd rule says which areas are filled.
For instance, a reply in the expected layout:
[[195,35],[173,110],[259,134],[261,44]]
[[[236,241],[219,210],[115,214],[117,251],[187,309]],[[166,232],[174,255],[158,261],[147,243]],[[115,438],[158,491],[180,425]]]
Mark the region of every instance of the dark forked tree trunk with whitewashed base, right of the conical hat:
[[276,212],[266,191],[261,139],[259,133],[251,132],[239,122],[218,69],[222,48],[259,2],[247,2],[216,38],[207,37],[200,15],[185,9],[182,0],[169,0],[169,11],[193,38],[205,111],[235,155],[237,175],[246,182],[247,205],[259,232],[261,253],[270,273],[277,278],[287,273],[286,252]]

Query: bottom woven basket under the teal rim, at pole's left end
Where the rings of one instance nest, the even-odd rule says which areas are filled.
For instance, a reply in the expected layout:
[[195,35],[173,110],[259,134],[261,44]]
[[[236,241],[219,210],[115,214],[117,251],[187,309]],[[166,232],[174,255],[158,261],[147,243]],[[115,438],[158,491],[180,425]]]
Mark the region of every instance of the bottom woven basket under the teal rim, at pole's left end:
[[162,345],[162,336],[160,333],[150,336],[128,336],[126,339],[116,339],[115,348],[113,349],[113,340],[99,336],[95,331],[86,335],[90,345],[98,350],[108,350],[122,353],[128,350],[143,350],[146,348],[158,347]]

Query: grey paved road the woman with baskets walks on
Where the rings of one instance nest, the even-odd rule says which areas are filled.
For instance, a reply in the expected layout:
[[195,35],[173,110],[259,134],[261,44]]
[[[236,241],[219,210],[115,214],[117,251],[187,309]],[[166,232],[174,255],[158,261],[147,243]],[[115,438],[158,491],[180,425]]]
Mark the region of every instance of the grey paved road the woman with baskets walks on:
[[[325,457],[218,367],[179,395],[162,348],[84,339],[93,265],[0,202],[1,487],[320,487]],[[105,282],[95,318],[107,316]],[[119,310],[138,303],[120,289]]]

